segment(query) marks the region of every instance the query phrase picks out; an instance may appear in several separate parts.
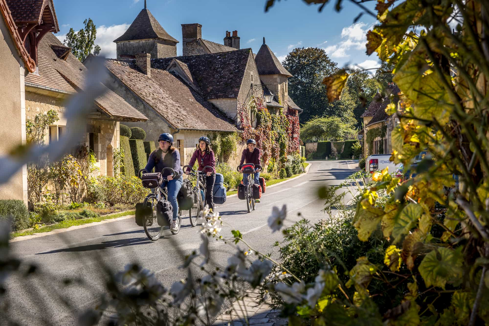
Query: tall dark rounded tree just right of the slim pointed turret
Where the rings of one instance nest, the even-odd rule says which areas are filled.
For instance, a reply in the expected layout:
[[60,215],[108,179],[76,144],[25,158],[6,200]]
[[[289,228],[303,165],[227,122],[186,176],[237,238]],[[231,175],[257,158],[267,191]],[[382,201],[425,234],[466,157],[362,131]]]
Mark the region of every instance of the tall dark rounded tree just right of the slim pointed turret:
[[293,75],[289,78],[289,95],[304,109],[301,121],[309,121],[314,116],[332,115],[328,111],[326,86],[322,81],[338,67],[326,52],[318,47],[298,47],[287,55],[283,65]]

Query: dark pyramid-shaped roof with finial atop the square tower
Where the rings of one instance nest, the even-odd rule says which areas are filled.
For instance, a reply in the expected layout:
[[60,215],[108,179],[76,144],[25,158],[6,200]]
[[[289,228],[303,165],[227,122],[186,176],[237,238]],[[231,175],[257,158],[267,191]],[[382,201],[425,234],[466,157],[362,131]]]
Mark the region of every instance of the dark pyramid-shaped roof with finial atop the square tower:
[[144,39],[163,39],[178,43],[171,37],[156,20],[155,16],[146,8],[141,10],[127,31],[114,42],[133,41]]

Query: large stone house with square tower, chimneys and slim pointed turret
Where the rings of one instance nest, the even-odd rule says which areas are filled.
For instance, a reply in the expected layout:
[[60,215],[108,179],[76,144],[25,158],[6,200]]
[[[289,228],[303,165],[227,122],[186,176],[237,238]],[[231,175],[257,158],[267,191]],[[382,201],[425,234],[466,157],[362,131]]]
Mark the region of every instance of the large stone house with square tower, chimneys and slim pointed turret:
[[[239,108],[251,96],[266,98],[269,109],[296,116],[301,111],[288,97],[290,73],[266,44],[255,57],[250,48],[240,49],[237,31],[226,31],[224,44],[219,44],[202,39],[199,23],[181,27],[183,56],[177,57],[178,41],[145,4],[128,30],[114,40],[117,59],[106,60],[111,75],[106,86],[149,117],[127,124],[146,130],[147,140],[172,133],[185,164],[200,136],[239,131]],[[163,41],[165,47],[155,45]],[[270,96],[264,95],[265,89]],[[254,126],[254,114],[247,113]],[[237,164],[242,148],[243,144],[228,163]]]

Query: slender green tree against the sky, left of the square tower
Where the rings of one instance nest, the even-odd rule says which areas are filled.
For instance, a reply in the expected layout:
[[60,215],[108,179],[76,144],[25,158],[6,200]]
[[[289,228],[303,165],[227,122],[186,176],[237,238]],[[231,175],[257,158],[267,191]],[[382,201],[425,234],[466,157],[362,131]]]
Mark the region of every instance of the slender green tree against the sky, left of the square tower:
[[95,24],[91,18],[86,19],[83,23],[85,27],[76,33],[73,28],[70,28],[66,39],[63,41],[66,46],[71,47],[71,52],[80,61],[84,61],[93,50],[95,55],[98,55],[101,50],[99,45],[95,45],[95,39],[97,38]]

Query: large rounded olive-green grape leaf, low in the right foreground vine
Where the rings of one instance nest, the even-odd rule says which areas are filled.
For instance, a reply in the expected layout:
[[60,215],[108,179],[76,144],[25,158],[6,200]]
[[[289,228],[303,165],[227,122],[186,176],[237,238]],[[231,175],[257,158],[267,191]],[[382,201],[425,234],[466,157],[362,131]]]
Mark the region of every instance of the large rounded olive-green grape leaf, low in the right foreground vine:
[[445,289],[447,282],[462,278],[463,260],[460,249],[439,247],[424,256],[418,270],[426,287],[433,285]]

